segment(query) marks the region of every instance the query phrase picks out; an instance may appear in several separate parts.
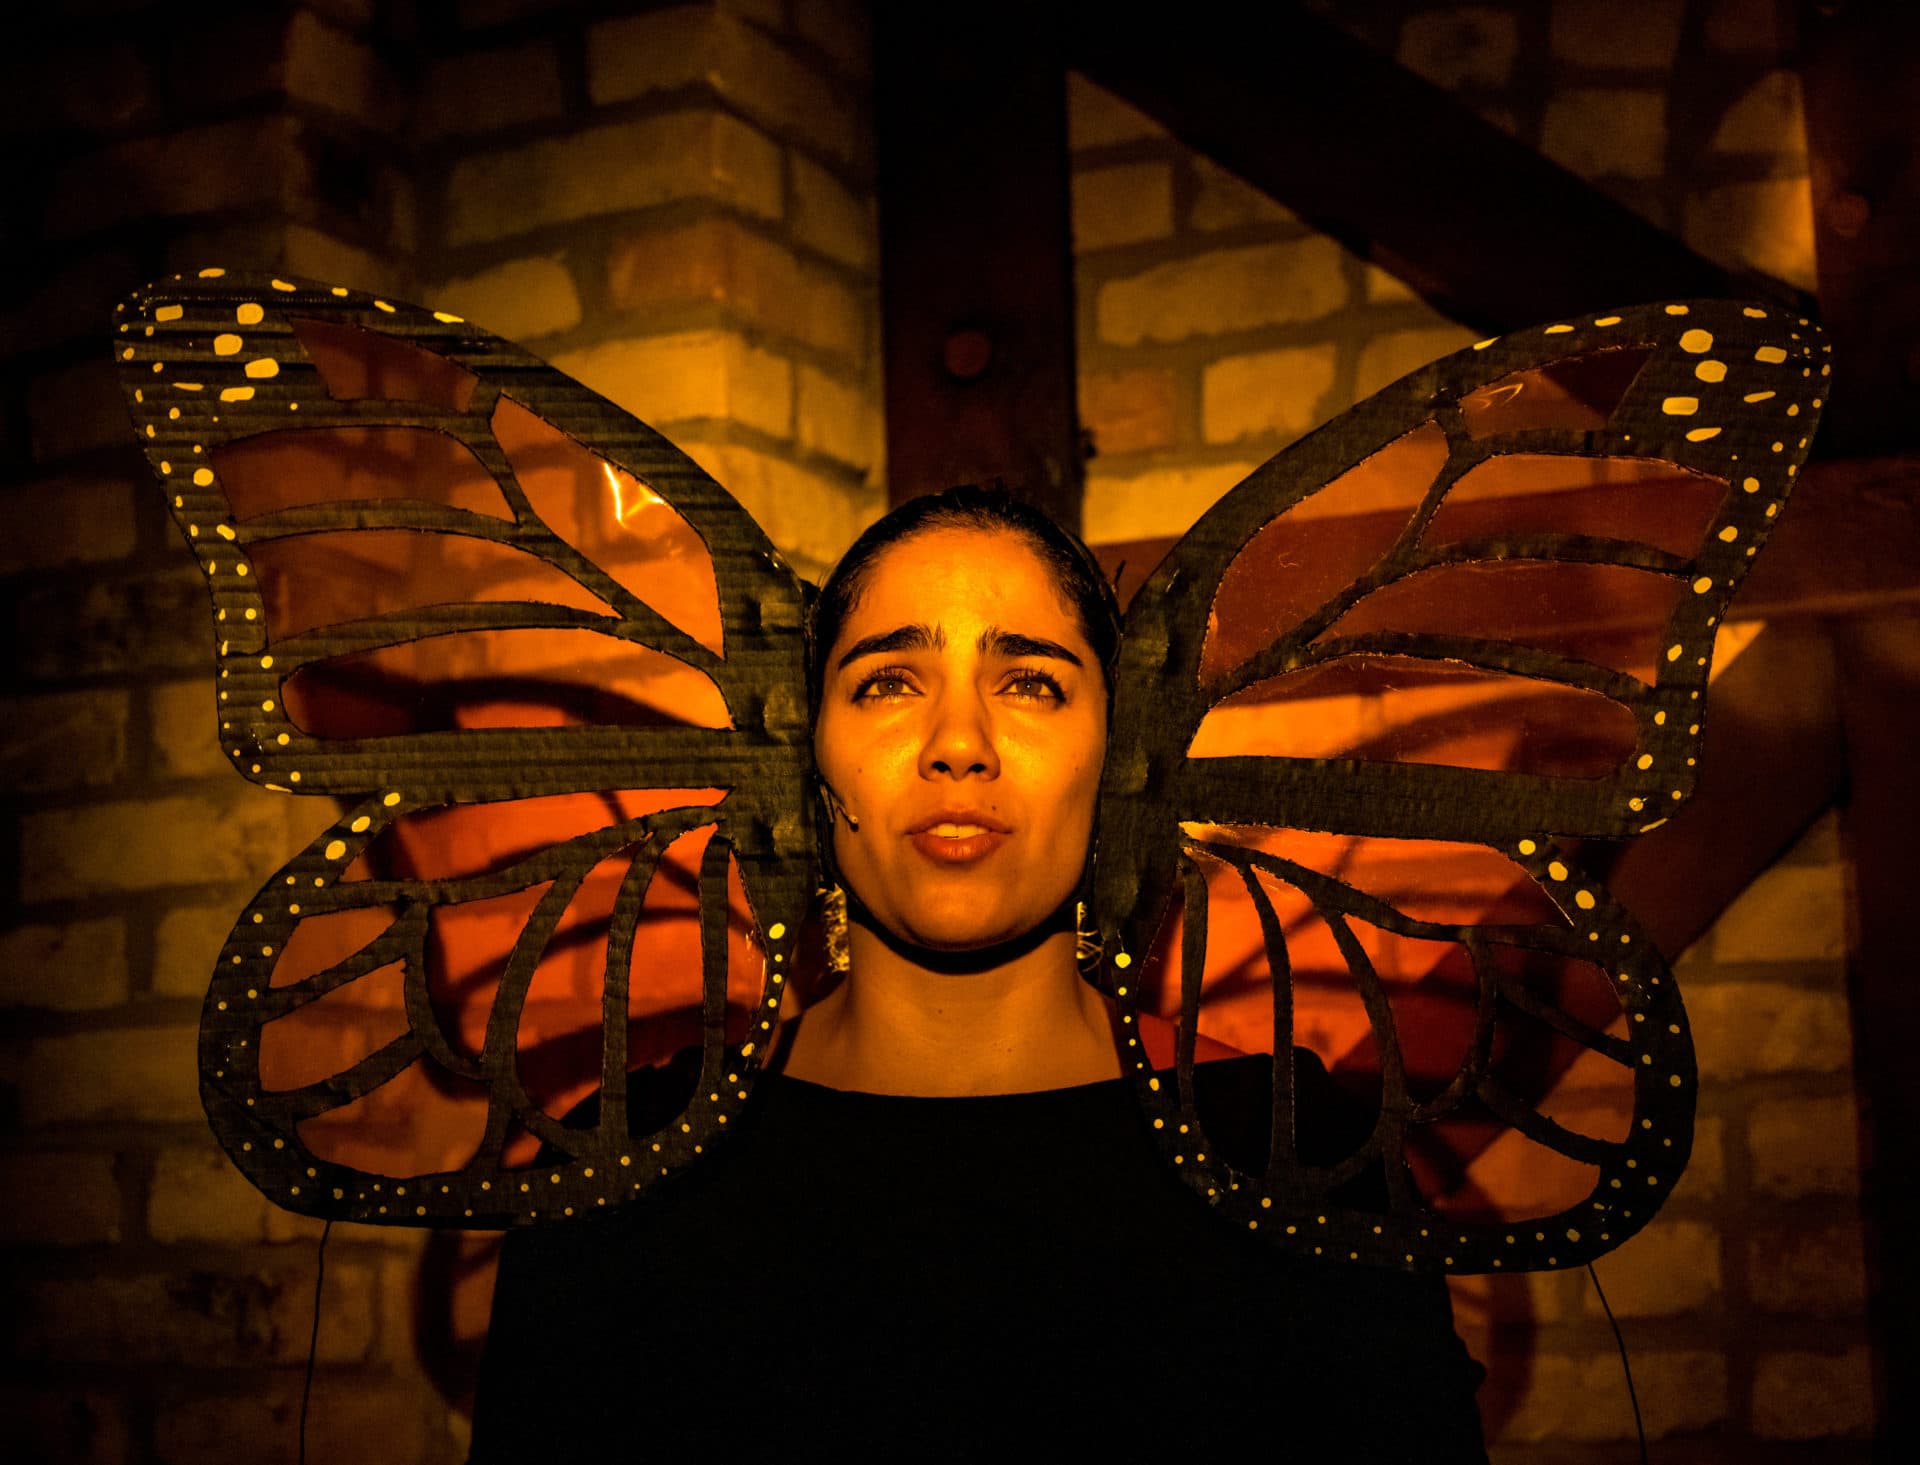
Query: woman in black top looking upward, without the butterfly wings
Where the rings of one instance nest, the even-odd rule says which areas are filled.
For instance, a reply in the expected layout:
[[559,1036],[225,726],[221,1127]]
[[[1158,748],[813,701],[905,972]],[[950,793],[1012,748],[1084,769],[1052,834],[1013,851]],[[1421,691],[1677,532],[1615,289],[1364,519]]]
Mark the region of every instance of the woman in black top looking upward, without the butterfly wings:
[[[1117,624],[1087,549],[1004,493],[847,551],[810,672],[851,972],[705,1165],[509,1238],[476,1461],[1484,1459],[1444,1286],[1221,1225],[1119,1079],[1073,920]],[[1265,1069],[1202,1071],[1231,1098]]]

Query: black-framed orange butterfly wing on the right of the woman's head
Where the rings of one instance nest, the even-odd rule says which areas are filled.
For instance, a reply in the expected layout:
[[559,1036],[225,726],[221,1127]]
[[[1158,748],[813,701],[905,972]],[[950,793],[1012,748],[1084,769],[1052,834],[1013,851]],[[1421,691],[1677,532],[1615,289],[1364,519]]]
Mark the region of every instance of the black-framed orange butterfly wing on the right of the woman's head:
[[[1139,591],[1100,981],[1167,1162],[1235,1223],[1342,1261],[1567,1267],[1672,1189],[1680,993],[1569,841],[1692,793],[1715,636],[1807,457],[1826,351],[1807,321],[1718,301],[1480,342],[1258,468]],[[1350,532],[1306,536],[1321,513]],[[1382,693],[1430,716],[1369,724]],[[1271,1054],[1252,1139],[1208,1106],[1221,1041]],[[1373,1073],[1332,1152],[1296,1043]],[[1611,1121],[1548,1102],[1596,1071]],[[1507,1139],[1576,1183],[1463,1200]]]

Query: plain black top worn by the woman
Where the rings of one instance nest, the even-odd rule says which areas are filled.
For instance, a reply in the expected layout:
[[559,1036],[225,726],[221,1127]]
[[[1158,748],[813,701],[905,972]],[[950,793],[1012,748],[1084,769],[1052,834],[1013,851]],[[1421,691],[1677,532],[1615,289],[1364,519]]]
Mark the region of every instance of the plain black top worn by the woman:
[[1231,1229],[1121,1079],[900,1098],[766,1075],[753,1110],[660,1190],[507,1238],[476,1465],[1486,1459],[1444,1283]]

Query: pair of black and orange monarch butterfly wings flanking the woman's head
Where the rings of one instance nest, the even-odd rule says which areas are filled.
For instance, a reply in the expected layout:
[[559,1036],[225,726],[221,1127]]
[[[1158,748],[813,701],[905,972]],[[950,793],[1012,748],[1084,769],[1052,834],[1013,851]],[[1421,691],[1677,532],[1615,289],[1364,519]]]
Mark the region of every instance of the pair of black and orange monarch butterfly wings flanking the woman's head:
[[[223,751],[255,783],[340,803],[213,972],[200,1068],[223,1146],[290,1210],[397,1225],[564,1219],[693,1164],[741,1121],[803,960],[808,588],[672,444],[447,313],[204,271],[125,303],[115,357],[207,576]],[[1820,330],[1759,305],[1480,342],[1260,467],[1135,595],[1089,979],[1167,1164],[1233,1225],[1332,1261],[1565,1267],[1672,1189],[1693,1112],[1680,993],[1576,841],[1686,803],[1715,636],[1826,382]],[[1377,507],[1384,476],[1425,484],[1417,505],[1290,563],[1304,520]],[[1592,520],[1607,495],[1613,516]],[[1655,607],[1659,643],[1601,664],[1563,632],[1619,588]],[[1498,703],[1511,735],[1467,766],[1436,753],[1446,739],[1369,743],[1311,716],[1386,687],[1475,728],[1475,705]],[[1379,851],[1457,856],[1494,897],[1405,899]],[[1223,977],[1233,902],[1246,949]],[[668,906],[695,939],[649,937]],[[482,929],[492,960],[455,970]],[[1467,1012],[1438,1069],[1409,1060],[1421,1035],[1392,972],[1413,949]],[[1346,983],[1350,1050],[1379,1093],[1332,1165],[1294,1152],[1309,968]],[[586,1014],[586,1129],[555,1117],[528,1060],[522,1029],[555,983]],[[386,1012],[378,1041],[324,1021],[355,993]],[[1208,1139],[1215,1012],[1213,1031],[1273,1054],[1261,1154]],[[1175,1020],[1171,1056],[1154,1014]],[[1542,1112],[1526,1033],[1561,1068],[1617,1075],[1624,1129]],[[684,1108],[630,1133],[628,1069],[676,1046],[699,1050]],[[401,1125],[457,1110],[459,1139],[386,1165],[332,1142],[380,1104]],[[1469,1150],[1519,1137],[1586,1189],[1521,1217],[1463,1208],[1444,1194],[1463,1150],[1430,1142],[1450,1125],[1478,1135]],[[1346,1202],[1361,1175],[1384,1212]]]

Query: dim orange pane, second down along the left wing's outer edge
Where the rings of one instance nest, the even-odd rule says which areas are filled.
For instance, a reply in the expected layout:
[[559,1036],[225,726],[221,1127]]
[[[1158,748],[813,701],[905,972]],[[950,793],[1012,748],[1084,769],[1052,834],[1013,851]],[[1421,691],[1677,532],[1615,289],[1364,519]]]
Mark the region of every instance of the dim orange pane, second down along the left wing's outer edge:
[[288,428],[213,449],[240,520],[317,503],[419,499],[513,518],[493,474],[467,444],[432,428]]

